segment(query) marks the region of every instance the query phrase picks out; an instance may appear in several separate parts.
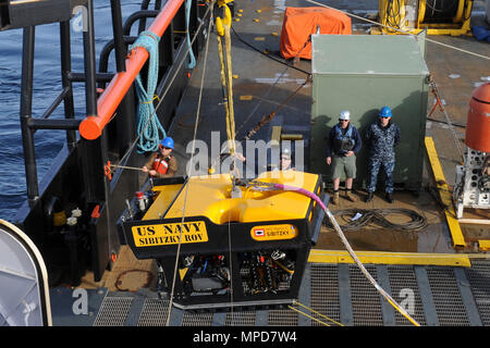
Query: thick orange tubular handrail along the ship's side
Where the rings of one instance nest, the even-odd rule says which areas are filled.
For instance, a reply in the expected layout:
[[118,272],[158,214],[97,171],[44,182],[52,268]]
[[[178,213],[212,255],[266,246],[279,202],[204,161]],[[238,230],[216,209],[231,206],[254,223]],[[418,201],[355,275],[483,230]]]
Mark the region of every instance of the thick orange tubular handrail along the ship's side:
[[[148,28],[161,37],[169,27],[184,0],[169,0]],[[109,86],[97,100],[97,115],[87,115],[79,124],[78,130],[87,140],[95,140],[109,123],[136,76],[148,60],[148,51],[143,47],[133,49],[126,58],[126,71],[114,75]]]

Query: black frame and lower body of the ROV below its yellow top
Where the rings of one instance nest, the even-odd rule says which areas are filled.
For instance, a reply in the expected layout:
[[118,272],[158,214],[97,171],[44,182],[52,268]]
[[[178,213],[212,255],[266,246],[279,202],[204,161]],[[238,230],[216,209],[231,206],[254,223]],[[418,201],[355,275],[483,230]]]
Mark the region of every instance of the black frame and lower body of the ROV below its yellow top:
[[[179,195],[183,194],[186,179],[183,177],[158,179],[155,186],[177,183],[182,183],[182,187],[163,212],[162,219],[145,220],[144,216],[138,219],[140,216],[130,211],[137,209],[137,202],[133,200],[131,209],[127,209],[118,222],[121,238],[127,243],[135,257],[139,260],[157,261],[159,269],[157,290],[160,297],[171,294],[173,289],[173,306],[183,310],[270,308],[291,304],[297,300],[309,251],[317,243],[324,216],[324,211],[319,204],[310,200],[302,219],[258,220],[245,223],[230,221],[216,224],[208,216],[196,215],[186,216],[183,222],[182,217],[164,216]],[[321,176],[318,176],[315,191],[327,204],[329,197],[322,191],[321,183]],[[294,206],[292,209],[295,209]],[[183,241],[176,260],[181,228]],[[145,239],[155,238],[156,235],[162,236],[163,229],[168,232],[168,238],[171,236],[174,239]],[[196,237],[196,229],[199,229],[200,237]],[[157,233],[148,237],[148,233],[155,231]],[[281,231],[282,236],[279,233]],[[187,239],[194,238],[194,243],[185,239],[192,235],[194,237]],[[166,241],[171,244],[164,244]],[[279,253],[284,258],[273,260],[272,256],[277,257]],[[175,262],[179,262],[177,276],[173,284]],[[211,263],[219,264],[217,268],[222,270],[218,277],[216,274],[212,278],[204,275],[206,266],[211,268]],[[208,285],[222,282],[222,286],[196,290],[193,285],[197,282]],[[278,286],[278,283],[281,283],[281,286]],[[254,286],[256,288],[253,288]]]

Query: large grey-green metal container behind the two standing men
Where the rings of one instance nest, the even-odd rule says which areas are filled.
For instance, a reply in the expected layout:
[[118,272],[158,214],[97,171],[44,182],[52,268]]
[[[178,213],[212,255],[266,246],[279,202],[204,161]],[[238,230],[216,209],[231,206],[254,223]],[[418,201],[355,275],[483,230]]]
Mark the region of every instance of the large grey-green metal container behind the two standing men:
[[[413,36],[313,36],[311,172],[324,174],[327,182],[332,178],[326,147],[342,110],[351,111],[351,122],[364,140],[367,127],[378,121],[379,110],[389,105],[392,122],[402,133],[396,147],[395,187],[420,189],[429,70],[419,47]],[[367,145],[363,144],[357,154],[356,188],[366,186],[367,156]]]

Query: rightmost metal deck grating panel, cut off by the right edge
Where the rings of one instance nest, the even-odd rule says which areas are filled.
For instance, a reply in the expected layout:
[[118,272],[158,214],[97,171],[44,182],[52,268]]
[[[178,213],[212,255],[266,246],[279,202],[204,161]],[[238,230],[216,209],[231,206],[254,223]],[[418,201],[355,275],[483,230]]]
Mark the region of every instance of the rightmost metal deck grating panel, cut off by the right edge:
[[490,326],[490,263],[474,261],[466,269],[473,296],[485,326]]

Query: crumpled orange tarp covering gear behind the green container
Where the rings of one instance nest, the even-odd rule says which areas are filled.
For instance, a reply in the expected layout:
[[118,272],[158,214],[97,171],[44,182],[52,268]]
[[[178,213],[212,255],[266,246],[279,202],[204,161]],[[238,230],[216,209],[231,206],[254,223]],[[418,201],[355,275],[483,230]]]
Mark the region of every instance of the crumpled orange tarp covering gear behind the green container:
[[[324,8],[286,8],[281,33],[281,55],[285,59],[311,59],[311,34],[352,34],[351,18]],[[306,44],[306,46],[305,46]]]

